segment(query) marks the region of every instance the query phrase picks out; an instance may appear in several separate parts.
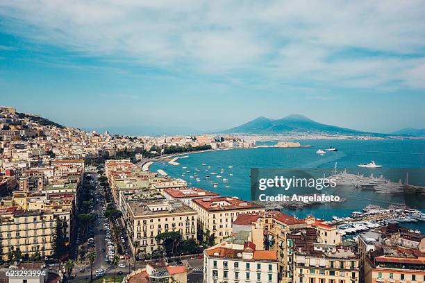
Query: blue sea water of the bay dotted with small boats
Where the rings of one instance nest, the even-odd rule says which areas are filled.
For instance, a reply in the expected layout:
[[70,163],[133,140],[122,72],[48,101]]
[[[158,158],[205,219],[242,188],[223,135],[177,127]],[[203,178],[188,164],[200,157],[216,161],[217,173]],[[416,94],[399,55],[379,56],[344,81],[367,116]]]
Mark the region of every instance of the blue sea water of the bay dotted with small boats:
[[[250,172],[251,168],[274,169],[274,168],[297,168],[297,169],[329,169],[333,170],[335,164],[338,171],[344,169],[356,169],[356,173],[379,176],[385,175],[388,169],[424,169],[425,168],[425,140],[422,139],[386,139],[386,140],[306,140],[299,141],[301,145],[310,145],[308,148],[238,148],[224,151],[208,151],[192,153],[188,157],[180,158],[174,166],[167,162],[156,162],[151,165],[151,171],[163,169],[168,175],[182,178],[188,182],[188,186],[201,187],[209,191],[215,191],[222,196],[237,196],[244,200],[250,200]],[[276,141],[267,141],[263,144],[272,145]],[[329,146],[338,148],[337,152],[328,152],[324,156],[316,154],[319,148]],[[186,156],[185,154],[181,156]],[[360,163],[369,163],[374,160],[376,164],[383,166],[382,169],[363,169],[357,167]],[[203,166],[202,164],[206,164]],[[228,168],[233,166],[233,168]],[[187,167],[183,169],[182,167]],[[205,171],[208,169],[208,171]],[[220,173],[224,169],[223,173]],[[199,170],[199,171],[198,171]],[[190,171],[190,173],[186,173]],[[200,181],[190,178],[194,173],[199,175]],[[216,175],[222,178],[216,178]],[[350,172],[354,173],[354,172]],[[185,175],[182,175],[185,174]],[[406,174],[406,173],[404,173]],[[205,179],[205,175],[210,175]],[[386,178],[399,178],[403,182],[404,175],[387,176]],[[412,185],[423,185],[422,176],[409,177]],[[224,182],[222,179],[228,179]],[[218,187],[213,187],[209,181],[217,182]],[[394,181],[398,181],[394,179]],[[415,183],[416,182],[416,183]],[[228,186],[228,187],[226,187]],[[403,203],[403,196],[389,194],[376,194],[372,190],[353,188],[341,189],[338,194],[346,198],[345,203],[338,205],[320,205],[299,210],[283,210],[283,212],[304,217],[313,214],[317,218],[330,220],[332,216],[350,216],[351,212],[360,211],[363,207],[374,204],[387,207],[390,204]],[[353,209],[355,207],[356,209]],[[422,209],[421,209],[422,210]],[[425,232],[425,223],[403,223],[410,228]]]

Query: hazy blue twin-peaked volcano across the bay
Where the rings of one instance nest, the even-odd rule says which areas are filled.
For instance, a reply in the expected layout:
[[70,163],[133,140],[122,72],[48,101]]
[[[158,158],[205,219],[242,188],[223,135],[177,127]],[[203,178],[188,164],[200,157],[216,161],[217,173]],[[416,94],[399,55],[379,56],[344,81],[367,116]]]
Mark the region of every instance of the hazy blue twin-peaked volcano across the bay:
[[276,135],[285,132],[325,132],[331,134],[349,135],[381,135],[369,132],[361,132],[337,126],[317,123],[312,119],[299,114],[291,114],[281,119],[269,119],[258,117],[241,126],[223,131],[223,133],[246,133]]

